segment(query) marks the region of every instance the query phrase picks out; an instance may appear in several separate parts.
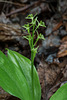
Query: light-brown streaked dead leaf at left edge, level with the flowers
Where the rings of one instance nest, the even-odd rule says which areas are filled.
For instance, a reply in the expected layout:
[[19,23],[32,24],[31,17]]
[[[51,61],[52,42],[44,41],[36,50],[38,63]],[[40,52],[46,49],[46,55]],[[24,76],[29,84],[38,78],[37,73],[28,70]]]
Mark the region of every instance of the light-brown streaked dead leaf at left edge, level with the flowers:
[[0,23],[0,40],[12,40],[21,36],[21,31],[15,28],[13,25]]

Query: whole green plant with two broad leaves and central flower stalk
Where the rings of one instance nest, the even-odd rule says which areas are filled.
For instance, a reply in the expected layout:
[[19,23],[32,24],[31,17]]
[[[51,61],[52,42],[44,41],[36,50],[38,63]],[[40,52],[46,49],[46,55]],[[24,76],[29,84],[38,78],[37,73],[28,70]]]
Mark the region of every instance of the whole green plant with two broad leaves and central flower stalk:
[[[28,35],[24,38],[29,41],[31,60],[9,49],[7,56],[0,51],[0,86],[21,100],[40,100],[41,87],[34,58],[38,49],[35,47],[36,43],[39,39],[44,39],[41,33],[38,34],[37,29],[40,26],[45,27],[45,24],[42,21],[39,22],[36,15],[30,14],[26,19],[31,20],[31,23],[23,26],[28,31]],[[37,39],[34,41],[35,34]]]

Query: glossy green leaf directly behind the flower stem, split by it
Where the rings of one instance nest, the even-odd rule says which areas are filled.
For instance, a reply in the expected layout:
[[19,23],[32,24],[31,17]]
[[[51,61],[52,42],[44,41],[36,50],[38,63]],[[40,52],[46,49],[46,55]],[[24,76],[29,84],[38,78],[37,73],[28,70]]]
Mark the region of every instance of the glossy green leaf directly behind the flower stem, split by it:
[[[15,51],[8,50],[8,58],[18,67],[20,68],[20,71],[24,74],[27,83],[29,85],[31,95],[32,95],[32,79],[31,79],[31,61],[20,55],[19,53]],[[38,74],[36,72],[36,69],[34,67],[34,100],[40,100],[41,98],[41,88],[40,88],[40,82],[38,78]]]

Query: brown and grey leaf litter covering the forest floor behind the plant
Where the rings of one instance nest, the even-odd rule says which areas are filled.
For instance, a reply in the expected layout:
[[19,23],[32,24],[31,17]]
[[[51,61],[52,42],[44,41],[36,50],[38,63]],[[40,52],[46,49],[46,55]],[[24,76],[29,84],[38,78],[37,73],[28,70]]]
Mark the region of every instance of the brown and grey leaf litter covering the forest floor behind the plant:
[[[39,51],[35,57],[42,96],[49,98],[67,82],[67,0],[0,0],[0,50],[5,48],[19,52],[30,59],[28,41],[22,26],[28,14],[36,14],[46,24],[39,28],[45,40],[38,41]],[[0,87],[0,100],[19,100]]]

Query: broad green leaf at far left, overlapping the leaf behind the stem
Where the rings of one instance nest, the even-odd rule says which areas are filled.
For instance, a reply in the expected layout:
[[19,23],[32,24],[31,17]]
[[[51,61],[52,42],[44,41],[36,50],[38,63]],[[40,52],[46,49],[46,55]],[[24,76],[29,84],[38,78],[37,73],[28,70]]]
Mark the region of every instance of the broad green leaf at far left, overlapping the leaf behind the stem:
[[0,51],[0,86],[22,100],[31,100],[31,92],[19,68]]

